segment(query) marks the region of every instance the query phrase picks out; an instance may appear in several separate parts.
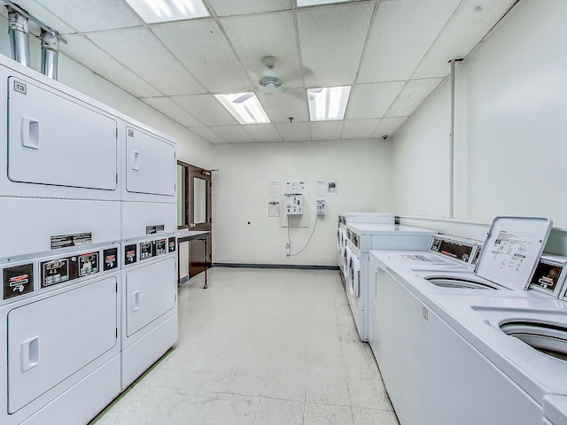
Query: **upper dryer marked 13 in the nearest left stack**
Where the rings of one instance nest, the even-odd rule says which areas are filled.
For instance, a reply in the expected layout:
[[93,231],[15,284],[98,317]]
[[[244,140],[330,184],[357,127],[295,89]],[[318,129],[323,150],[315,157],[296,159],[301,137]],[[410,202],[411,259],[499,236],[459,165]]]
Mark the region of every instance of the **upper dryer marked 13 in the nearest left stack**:
[[0,81],[0,261],[117,240],[120,114],[4,56]]

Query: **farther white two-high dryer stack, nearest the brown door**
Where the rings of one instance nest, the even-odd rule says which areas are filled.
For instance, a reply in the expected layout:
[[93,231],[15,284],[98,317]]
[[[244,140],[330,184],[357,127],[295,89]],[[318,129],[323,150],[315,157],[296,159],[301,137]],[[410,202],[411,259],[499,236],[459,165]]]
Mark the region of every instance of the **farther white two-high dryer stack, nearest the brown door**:
[[175,140],[124,118],[122,388],[177,340]]

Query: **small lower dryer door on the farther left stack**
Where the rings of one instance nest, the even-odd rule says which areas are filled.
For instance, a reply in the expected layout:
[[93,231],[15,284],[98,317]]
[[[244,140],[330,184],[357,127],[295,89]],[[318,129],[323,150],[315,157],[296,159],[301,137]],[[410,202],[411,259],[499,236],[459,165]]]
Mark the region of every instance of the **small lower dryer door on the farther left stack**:
[[126,336],[156,320],[177,302],[175,258],[126,273]]

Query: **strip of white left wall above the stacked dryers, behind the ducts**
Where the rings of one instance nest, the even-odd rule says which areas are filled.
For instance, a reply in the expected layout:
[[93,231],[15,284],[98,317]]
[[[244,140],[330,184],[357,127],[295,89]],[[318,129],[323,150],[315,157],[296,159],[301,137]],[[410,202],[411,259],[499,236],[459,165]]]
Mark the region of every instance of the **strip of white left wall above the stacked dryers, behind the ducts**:
[[[0,54],[11,57],[10,40],[8,38],[8,21],[0,16]],[[41,50],[39,41],[30,35],[30,58],[32,68],[38,70],[41,64]],[[196,166],[207,168],[211,159],[212,145],[198,135],[191,133],[187,128],[169,120],[161,112],[151,108],[148,104],[129,95],[112,82],[105,80],[97,73],[93,73],[85,66],[59,54],[58,81],[73,89],[108,104],[114,109],[123,112],[132,118],[144,122],[159,131],[177,139],[177,158]]]

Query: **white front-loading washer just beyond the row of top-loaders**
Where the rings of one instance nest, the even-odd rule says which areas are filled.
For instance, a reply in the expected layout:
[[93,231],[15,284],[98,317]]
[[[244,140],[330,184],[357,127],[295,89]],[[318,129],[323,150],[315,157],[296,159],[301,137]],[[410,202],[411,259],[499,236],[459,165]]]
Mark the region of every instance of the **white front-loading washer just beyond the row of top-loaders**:
[[346,246],[351,253],[346,265],[346,298],[361,341],[368,341],[369,251],[426,251],[435,232],[386,224],[347,224],[346,231]]

